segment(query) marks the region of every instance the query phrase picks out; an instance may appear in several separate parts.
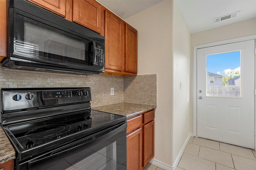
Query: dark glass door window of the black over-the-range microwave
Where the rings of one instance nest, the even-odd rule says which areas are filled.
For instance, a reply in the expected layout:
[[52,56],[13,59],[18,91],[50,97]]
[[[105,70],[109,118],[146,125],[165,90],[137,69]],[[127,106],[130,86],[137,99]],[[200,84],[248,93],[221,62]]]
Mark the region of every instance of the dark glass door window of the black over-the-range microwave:
[[54,23],[35,16],[16,13],[14,20],[14,54],[40,62],[88,64],[89,42]]

